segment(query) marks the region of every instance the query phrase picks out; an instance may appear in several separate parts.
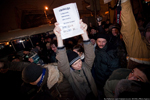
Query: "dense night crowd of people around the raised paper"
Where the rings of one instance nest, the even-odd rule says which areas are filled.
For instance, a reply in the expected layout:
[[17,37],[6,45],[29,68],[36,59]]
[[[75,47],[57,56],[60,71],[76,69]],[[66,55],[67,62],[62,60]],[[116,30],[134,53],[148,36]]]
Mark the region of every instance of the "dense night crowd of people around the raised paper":
[[80,20],[84,33],[65,40],[56,22],[54,34],[41,36],[35,48],[0,61],[0,75],[19,71],[23,100],[150,98],[150,23],[144,28],[135,20],[130,0],[121,6],[121,26]]

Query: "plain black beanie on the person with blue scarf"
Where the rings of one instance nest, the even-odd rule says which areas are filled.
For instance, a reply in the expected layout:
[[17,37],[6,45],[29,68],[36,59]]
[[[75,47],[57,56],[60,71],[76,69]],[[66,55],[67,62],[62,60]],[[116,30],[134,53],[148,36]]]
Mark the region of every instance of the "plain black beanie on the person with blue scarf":
[[43,72],[43,68],[39,65],[31,63],[22,71],[22,79],[26,83],[35,82]]

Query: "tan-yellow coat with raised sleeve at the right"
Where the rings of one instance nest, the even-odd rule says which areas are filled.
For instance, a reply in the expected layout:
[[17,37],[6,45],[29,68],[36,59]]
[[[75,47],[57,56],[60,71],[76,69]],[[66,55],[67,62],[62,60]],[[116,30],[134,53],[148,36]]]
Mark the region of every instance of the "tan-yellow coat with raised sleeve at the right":
[[150,64],[150,43],[148,43],[144,37],[141,37],[132,12],[130,0],[122,3],[121,6],[121,33],[129,55],[129,60],[137,63]]

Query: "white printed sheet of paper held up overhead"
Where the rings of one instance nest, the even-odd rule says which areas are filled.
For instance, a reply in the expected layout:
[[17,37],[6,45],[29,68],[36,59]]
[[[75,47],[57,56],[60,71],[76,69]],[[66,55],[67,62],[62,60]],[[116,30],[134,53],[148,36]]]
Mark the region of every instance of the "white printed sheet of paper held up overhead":
[[83,33],[79,24],[79,13],[76,3],[69,3],[53,9],[62,39],[77,36]]

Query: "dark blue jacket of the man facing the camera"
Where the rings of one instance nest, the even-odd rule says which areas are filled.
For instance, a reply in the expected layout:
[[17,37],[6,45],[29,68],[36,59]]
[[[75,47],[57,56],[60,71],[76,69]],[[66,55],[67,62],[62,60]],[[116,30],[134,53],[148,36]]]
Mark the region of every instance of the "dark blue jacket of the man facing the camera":
[[116,50],[107,50],[107,44],[102,49],[97,46],[95,55],[95,81],[97,87],[102,89],[111,73],[119,68],[119,59],[117,58]]

